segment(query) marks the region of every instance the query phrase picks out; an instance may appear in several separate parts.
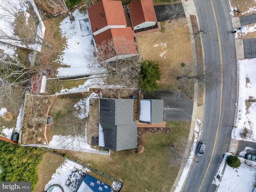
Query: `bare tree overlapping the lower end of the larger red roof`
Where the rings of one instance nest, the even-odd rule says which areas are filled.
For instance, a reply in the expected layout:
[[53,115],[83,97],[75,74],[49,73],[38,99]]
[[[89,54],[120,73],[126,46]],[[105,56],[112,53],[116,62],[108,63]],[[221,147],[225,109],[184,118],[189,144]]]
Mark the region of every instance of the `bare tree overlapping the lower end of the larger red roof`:
[[[115,42],[118,42],[118,44]],[[96,45],[96,48],[98,50],[98,61],[103,67],[96,73],[102,74],[101,78],[107,85],[138,87],[140,62],[138,62],[136,56],[125,58],[125,55],[134,55],[132,50],[135,47],[132,42],[124,38],[117,38],[104,41]]]

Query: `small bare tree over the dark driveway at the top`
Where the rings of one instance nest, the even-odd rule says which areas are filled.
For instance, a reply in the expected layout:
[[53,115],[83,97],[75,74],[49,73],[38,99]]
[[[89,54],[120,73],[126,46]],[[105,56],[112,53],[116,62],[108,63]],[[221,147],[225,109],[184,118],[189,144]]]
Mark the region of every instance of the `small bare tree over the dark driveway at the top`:
[[179,20],[185,17],[185,12],[182,6],[182,3],[174,3],[174,4],[167,4],[165,5],[165,14],[170,15],[169,20]]

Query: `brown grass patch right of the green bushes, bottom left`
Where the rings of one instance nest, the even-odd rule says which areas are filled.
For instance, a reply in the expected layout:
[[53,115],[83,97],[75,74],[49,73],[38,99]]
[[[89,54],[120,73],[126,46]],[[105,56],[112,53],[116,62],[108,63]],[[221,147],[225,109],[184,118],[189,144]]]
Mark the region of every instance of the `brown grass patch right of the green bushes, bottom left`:
[[38,165],[38,182],[35,192],[44,192],[44,187],[51,180],[52,174],[64,162],[64,158],[52,153],[45,153],[42,161]]

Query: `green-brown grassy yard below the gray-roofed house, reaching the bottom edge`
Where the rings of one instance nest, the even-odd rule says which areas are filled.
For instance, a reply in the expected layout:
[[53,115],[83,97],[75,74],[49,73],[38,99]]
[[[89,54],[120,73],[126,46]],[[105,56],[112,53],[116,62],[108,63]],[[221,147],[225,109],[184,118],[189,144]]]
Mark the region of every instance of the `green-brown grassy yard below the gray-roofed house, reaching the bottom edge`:
[[[142,136],[144,152],[135,154],[134,150],[111,152],[110,156],[83,152],[66,152],[92,167],[124,180],[123,191],[170,191],[180,168],[180,159],[174,158],[171,145],[184,153],[184,140],[187,140],[190,122],[168,122],[169,134],[147,132]],[[108,165],[108,166],[106,166]],[[111,184],[107,178],[96,173],[92,176]]]

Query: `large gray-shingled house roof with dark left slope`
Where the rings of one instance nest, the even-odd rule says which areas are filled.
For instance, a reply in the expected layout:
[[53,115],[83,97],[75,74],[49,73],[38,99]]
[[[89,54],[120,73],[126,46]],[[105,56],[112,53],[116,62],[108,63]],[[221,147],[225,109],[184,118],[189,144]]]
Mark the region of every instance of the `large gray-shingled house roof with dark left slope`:
[[99,126],[100,147],[114,151],[137,148],[133,99],[101,98]]

